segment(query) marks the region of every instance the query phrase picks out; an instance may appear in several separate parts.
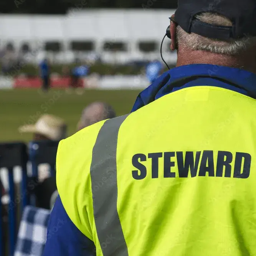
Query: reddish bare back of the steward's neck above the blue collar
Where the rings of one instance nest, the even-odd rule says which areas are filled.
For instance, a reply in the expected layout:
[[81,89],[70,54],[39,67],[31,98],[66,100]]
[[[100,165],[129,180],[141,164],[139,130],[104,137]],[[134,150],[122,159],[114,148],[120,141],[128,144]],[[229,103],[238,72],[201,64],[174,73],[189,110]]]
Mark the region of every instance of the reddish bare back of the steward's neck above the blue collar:
[[182,49],[178,51],[176,66],[189,64],[213,64],[240,68],[256,74],[256,59],[252,53],[241,53],[238,56],[216,54],[206,51]]

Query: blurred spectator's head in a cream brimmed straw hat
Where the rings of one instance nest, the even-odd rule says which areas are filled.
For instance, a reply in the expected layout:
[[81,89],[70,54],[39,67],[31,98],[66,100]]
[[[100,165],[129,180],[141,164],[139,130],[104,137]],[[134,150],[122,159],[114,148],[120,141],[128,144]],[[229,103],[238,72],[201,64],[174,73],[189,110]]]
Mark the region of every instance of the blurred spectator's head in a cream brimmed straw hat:
[[63,119],[45,114],[35,124],[28,124],[19,128],[21,133],[33,133],[33,140],[62,140],[67,135],[67,125]]

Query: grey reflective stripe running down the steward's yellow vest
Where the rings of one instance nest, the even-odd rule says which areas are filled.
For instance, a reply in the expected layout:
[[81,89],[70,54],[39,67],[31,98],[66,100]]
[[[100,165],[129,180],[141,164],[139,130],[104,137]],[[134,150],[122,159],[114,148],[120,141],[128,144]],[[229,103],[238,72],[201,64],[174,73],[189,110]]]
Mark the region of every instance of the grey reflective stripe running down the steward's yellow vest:
[[128,256],[117,213],[116,149],[119,128],[125,116],[107,120],[92,150],[91,185],[94,220],[104,256]]

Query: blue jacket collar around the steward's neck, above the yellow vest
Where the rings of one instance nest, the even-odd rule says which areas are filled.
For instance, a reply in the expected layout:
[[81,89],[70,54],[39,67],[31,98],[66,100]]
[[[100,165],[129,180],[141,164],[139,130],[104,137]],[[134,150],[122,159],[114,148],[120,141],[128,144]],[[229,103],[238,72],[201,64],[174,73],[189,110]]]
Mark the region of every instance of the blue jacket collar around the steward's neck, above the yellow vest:
[[[193,77],[194,83],[191,82]],[[251,96],[256,95],[256,74],[243,69],[211,64],[191,64],[173,68],[140,92],[132,112],[177,89],[200,85],[231,89]]]

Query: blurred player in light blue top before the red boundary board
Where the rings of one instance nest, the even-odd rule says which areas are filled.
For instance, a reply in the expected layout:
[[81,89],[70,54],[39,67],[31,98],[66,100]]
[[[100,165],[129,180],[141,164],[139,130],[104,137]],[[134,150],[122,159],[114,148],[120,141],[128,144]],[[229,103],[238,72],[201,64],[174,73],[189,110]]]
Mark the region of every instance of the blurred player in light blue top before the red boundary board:
[[88,76],[89,66],[83,64],[80,60],[76,60],[76,65],[71,69],[70,86],[67,92],[70,93],[72,90],[75,90],[77,94],[83,94],[84,89],[81,88],[81,78]]

